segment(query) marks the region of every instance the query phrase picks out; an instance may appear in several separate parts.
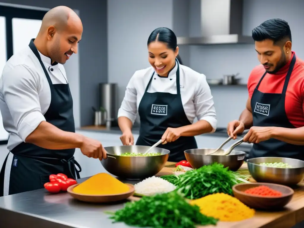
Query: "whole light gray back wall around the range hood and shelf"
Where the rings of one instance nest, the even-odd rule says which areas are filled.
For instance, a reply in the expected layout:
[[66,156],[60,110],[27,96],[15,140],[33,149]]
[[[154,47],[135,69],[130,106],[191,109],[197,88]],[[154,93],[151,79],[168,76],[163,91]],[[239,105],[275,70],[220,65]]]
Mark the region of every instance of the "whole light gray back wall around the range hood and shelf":
[[[187,33],[190,36],[200,36],[199,4],[199,0],[109,1],[109,82],[118,83],[119,102],[123,99],[126,85],[134,71],[149,66],[146,42],[153,29],[166,26],[173,29],[177,36]],[[267,19],[285,19],[292,30],[292,49],[298,57],[303,58],[302,9],[304,1],[301,0],[245,0],[244,35],[251,35],[251,30]],[[207,78],[222,78],[224,74],[240,73],[241,83],[244,84],[247,83],[250,71],[259,64],[254,44],[180,46],[180,54],[185,65],[205,74]],[[120,61],[117,60],[118,56]],[[226,127],[229,121],[239,118],[248,98],[246,86],[211,87],[211,92],[218,127]]]

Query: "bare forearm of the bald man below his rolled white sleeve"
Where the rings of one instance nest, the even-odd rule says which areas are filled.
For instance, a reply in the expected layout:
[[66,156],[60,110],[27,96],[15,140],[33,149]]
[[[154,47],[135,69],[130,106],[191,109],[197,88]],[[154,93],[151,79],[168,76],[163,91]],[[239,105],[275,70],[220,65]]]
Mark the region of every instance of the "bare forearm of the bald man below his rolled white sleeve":
[[84,136],[80,134],[60,130],[56,126],[42,121],[25,141],[45,149],[63,150],[80,148],[83,138]]

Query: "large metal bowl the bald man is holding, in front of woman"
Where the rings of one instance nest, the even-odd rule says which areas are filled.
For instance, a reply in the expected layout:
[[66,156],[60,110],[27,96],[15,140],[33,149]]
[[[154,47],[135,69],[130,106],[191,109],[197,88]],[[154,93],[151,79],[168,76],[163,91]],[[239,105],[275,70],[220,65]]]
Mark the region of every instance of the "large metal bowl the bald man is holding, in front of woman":
[[101,164],[109,173],[124,179],[144,179],[152,177],[161,171],[166,164],[170,151],[155,147],[149,153],[161,153],[157,156],[126,157],[119,156],[124,153],[144,153],[148,146],[115,146],[105,147],[112,157],[102,159]]

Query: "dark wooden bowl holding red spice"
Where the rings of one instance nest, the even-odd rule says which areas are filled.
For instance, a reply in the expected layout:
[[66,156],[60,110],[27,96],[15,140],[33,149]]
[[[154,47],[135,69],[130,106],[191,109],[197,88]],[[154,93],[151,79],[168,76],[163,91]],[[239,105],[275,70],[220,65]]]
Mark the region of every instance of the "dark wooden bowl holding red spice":
[[[261,185],[265,185],[273,190],[282,192],[282,196],[259,196],[247,194],[248,188],[254,188]],[[292,199],[294,191],[285,185],[271,184],[271,183],[241,183],[232,187],[234,196],[254,209],[280,209],[284,207]]]

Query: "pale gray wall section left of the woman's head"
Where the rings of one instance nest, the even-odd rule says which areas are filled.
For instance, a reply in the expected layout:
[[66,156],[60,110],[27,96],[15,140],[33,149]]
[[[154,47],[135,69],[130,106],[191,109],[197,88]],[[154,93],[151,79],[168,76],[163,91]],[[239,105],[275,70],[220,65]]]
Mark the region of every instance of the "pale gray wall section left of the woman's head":
[[172,1],[108,1],[108,80],[118,83],[119,106],[134,72],[150,66],[150,33],[157,27],[172,29]]

